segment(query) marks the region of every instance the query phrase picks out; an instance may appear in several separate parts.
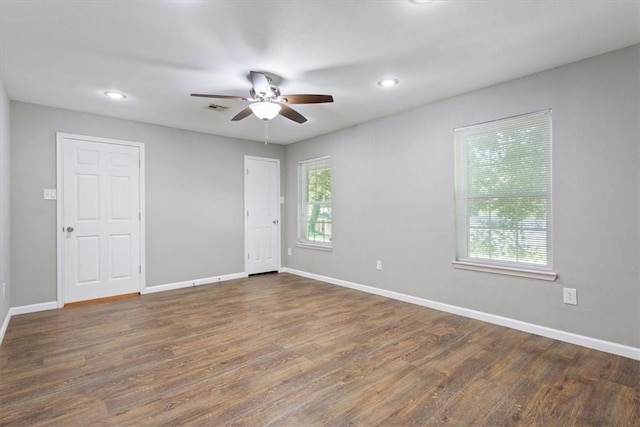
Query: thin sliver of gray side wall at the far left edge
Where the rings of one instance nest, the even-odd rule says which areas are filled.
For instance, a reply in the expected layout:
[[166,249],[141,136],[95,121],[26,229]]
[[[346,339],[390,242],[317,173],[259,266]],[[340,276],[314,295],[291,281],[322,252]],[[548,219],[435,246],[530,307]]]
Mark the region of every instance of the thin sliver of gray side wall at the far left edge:
[[[9,313],[11,299],[9,105],[9,97],[0,78],[0,325]],[[6,287],[4,297],[2,286]]]

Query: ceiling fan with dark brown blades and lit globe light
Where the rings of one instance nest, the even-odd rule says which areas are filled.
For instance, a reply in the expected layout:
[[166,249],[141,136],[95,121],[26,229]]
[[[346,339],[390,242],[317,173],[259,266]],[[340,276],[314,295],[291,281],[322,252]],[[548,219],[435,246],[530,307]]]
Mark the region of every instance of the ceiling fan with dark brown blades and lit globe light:
[[220,99],[242,99],[251,104],[244,110],[236,114],[231,120],[238,121],[249,116],[251,113],[262,120],[271,120],[278,114],[297,123],[307,121],[306,117],[298,113],[287,104],[320,104],[333,102],[331,95],[281,95],[280,89],[272,84],[271,77],[264,73],[251,71],[249,74],[253,87],[249,91],[250,97],[233,95],[209,95],[203,93],[192,93],[191,96],[203,98]]

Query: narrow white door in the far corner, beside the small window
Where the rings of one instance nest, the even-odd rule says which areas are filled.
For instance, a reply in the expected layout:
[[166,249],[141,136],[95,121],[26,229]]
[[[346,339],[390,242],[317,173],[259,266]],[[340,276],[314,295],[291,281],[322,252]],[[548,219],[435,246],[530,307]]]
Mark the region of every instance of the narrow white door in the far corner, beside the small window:
[[247,274],[280,268],[280,161],[245,157]]

